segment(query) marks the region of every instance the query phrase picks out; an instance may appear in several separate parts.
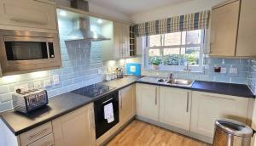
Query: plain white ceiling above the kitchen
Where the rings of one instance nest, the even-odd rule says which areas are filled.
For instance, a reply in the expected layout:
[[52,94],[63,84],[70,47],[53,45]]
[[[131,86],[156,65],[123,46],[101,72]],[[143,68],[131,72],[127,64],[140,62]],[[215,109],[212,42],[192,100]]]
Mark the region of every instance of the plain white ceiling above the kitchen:
[[[152,8],[188,2],[192,0],[87,0],[105,8],[112,8],[123,14],[138,14]],[[90,4],[89,3],[89,4]]]

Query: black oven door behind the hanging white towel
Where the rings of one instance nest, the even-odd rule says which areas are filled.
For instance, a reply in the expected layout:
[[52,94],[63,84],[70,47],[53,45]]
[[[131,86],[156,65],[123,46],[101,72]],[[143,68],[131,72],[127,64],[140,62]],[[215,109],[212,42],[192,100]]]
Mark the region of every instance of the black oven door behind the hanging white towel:
[[[114,121],[108,123],[104,118],[104,106],[113,104]],[[113,126],[119,123],[119,93],[111,93],[104,98],[94,102],[95,124],[96,124],[96,138],[100,138],[105,132],[108,132]]]

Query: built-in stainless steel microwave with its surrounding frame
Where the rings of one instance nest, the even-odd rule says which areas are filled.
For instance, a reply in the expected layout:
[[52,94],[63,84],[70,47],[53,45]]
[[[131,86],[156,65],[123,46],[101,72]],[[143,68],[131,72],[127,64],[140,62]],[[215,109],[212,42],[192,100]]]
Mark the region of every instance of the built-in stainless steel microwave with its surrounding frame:
[[57,33],[0,30],[3,76],[61,67]]

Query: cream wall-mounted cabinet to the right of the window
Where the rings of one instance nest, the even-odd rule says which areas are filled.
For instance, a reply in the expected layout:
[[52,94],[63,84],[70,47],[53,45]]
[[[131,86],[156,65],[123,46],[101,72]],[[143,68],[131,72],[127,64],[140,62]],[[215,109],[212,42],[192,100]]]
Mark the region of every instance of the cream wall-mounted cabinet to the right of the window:
[[255,8],[253,0],[230,0],[212,8],[211,56],[256,56]]

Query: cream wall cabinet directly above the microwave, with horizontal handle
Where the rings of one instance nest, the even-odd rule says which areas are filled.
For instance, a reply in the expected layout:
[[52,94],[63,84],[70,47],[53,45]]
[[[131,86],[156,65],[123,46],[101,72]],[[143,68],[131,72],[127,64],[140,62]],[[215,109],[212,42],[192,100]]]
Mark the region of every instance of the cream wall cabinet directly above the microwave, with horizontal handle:
[[0,0],[0,25],[57,30],[55,3],[49,0]]

